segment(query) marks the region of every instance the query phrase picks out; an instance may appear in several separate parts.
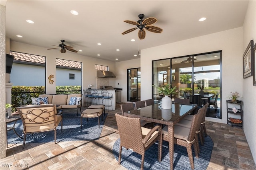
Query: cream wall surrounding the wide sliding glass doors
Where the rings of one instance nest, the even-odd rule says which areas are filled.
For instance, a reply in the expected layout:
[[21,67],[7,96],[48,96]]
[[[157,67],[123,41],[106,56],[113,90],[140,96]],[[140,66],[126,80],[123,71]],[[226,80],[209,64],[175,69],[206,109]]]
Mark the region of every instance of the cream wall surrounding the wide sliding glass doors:
[[218,50],[222,50],[222,119],[206,120],[226,123],[227,97],[230,92],[242,95],[242,27],[141,50],[141,100],[152,98],[153,60]]

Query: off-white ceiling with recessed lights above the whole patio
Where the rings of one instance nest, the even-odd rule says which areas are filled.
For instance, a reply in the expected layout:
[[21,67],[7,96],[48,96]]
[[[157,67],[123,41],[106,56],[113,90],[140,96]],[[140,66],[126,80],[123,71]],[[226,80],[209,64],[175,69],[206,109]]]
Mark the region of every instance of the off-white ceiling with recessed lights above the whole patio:
[[[247,6],[247,0],[7,0],[6,36],[46,50],[64,39],[66,45],[82,50],[79,55],[125,61],[138,58],[141,49],[241,27]],[[79,15],[72,15],[70,10]],[[163,32],[146,30],[143,40],[138,38],[138,29],[122,35],[136,27],[124,20],[137,21],[139,14],[144,14],[144,19],[156,18],[153,25]],[[207,19],[198,21],[202,17]]]

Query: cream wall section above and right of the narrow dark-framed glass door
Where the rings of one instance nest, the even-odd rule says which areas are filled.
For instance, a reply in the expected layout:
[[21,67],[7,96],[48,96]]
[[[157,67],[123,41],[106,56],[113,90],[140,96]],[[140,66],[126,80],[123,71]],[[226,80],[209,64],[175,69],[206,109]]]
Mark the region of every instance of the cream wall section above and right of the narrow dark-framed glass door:
[[[127,102],[127,69],[139,68],[140,58],[116,63],[116,88],[122,88],[121,102]],[[150,68],[151,69],[151,68]],[[119,83],[119,84],[118,84]]]

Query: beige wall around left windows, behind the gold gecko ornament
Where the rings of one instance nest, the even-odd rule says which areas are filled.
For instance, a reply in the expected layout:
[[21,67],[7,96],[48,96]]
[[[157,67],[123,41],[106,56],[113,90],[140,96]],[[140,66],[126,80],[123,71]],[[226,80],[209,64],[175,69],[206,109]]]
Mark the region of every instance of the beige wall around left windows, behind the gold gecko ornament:
[[[10,51],[46,57],[46,93],[48,94],[56,93],[56,58],[82,62],[82,89],[88,88],[88,84],[92,84],[96,87],[95,64],[109,66],[109,70],[116,74],[115,62],[85,57],[79,55],[79,52],[78,54],[69,51],[66,53],[60,53],[59,50],[47,50],[47,48],[44,47],[18,43],[15,41],[10,41],[10,45],[6,44],[6,46],[10,46]],[[48,83],[48,76],[50,74],[54,75],[54,78],[52,79],[54,80],[54,84]],[[115,86],[115,78],[111,78],[109,80],[109,86]]]

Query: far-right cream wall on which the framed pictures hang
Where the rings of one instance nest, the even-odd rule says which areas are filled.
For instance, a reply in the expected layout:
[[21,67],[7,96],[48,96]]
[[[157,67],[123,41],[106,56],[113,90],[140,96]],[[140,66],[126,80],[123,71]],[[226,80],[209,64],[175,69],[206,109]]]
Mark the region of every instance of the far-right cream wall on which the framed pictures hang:
[[[249,1],[243,25],[243,51],[250,40],[256,43],[256,1]],[[256,162],[256,86],[253,86],[253,76],[242,80],[244,102],[244,133]]]

